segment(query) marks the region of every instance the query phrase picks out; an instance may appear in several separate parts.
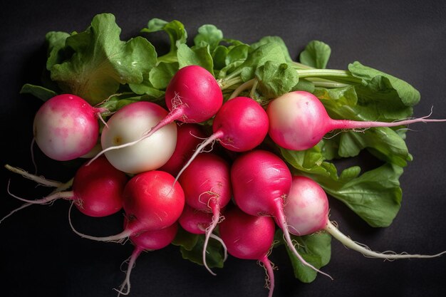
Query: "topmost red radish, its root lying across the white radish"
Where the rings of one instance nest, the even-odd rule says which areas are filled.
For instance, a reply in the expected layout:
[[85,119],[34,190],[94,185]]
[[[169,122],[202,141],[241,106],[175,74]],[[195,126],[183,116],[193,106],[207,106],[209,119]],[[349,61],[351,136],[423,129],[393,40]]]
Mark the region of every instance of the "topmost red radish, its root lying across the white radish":
[[145,131],[132,141],[124,144],[110,143],[103,147],[104,150],[100,154],[135,145],[175,120],[184,123],[209,120],[222,106],[223,93],[212,73],[201,66],[185,66],[175,73],[167,85],[165,103],[170,113],[145,127]]

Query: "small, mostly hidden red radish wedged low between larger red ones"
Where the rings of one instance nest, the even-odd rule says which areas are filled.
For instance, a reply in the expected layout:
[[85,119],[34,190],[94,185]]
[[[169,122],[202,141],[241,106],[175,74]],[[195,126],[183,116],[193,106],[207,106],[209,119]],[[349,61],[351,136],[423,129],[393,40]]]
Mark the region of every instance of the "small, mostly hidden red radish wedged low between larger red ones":
[[[185,229],[187,232],[190,232],[192,234],[206,234],[207,229],[209,229],[209,226],[212,224],[212,213],[211,212],[203,212],[198,209],[194,209],[190,207],[189,205],[185,204],[185,209],[183,209],[183,212],[181,214],[180,219],[178,219],[178,222],[182,226],[182,229]],[[219,236],[211,233],[210,237],[219,241],[220,244],[222,244],[224,249],[224,259],[223,261],[226,261],[227,259],[227,248],[222,239],[219,238]]]

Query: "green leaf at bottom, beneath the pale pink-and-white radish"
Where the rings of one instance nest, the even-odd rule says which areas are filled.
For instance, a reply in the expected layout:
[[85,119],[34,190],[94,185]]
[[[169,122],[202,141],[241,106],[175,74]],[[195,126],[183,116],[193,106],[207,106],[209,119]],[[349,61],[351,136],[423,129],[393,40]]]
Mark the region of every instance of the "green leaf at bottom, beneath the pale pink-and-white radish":
[[[283,233],[281,230],[276,231],[276,239],[283,243]],[[325,231],[316,232],[305,236],[291,235],[291,239],[296,242],[296,250],[316,269],[326,266],[331,259],[331,235]],[[317,272],[310,267],[304,265],[294,255],[293,251],[287,245],[286,251],[293,266],[294,276],[304,283],[311,283],[316,279]]]

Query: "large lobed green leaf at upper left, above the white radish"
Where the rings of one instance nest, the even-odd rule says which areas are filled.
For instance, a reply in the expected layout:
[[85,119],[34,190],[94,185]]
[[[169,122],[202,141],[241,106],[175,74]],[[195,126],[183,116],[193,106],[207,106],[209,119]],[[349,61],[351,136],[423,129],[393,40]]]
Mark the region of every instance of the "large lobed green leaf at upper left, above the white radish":
[[85,31],[66,38],[66,46],[73,56],[51,67],[51,79],[91,105],[116,93],[120,85],[141,83],[156,63],[155,48],[145,38],[120,41],[113,14],[95,16]]

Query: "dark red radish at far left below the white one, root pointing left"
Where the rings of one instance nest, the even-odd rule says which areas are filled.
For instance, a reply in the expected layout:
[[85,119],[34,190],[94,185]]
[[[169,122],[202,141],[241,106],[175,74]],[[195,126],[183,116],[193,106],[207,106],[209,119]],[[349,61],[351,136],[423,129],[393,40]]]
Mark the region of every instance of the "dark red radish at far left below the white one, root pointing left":
[[100,157],[87,166],[85,163],[73,178],[71,191],[58,191],[47,197],[28,200],[25,205],[48,204],[56,199],[73,200],[80,212],[89,217],[105,217],[123,208],[123,191],[128,177],[117,170],[105,157]]

